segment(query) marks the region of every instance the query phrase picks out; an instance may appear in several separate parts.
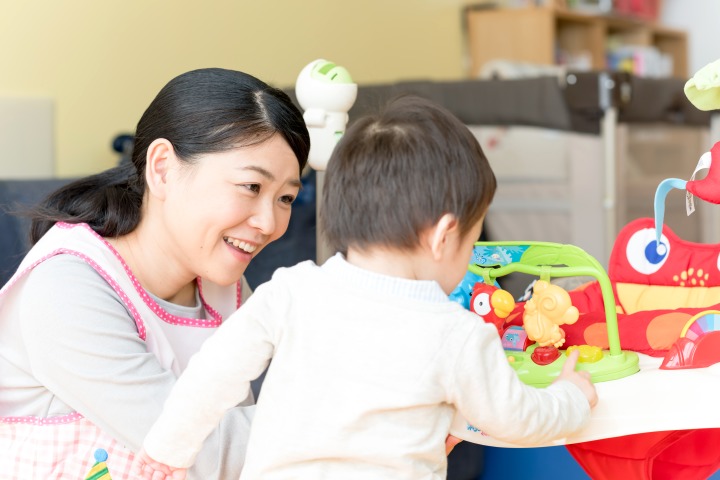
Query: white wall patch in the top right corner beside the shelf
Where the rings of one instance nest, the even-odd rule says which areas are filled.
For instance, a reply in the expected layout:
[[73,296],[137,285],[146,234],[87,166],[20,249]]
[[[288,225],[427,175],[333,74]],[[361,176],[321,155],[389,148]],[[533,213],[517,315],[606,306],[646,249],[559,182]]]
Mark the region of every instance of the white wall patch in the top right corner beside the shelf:
[[720,59],[720,1],[662,0],[661,22],[688,32],[689,75]]

